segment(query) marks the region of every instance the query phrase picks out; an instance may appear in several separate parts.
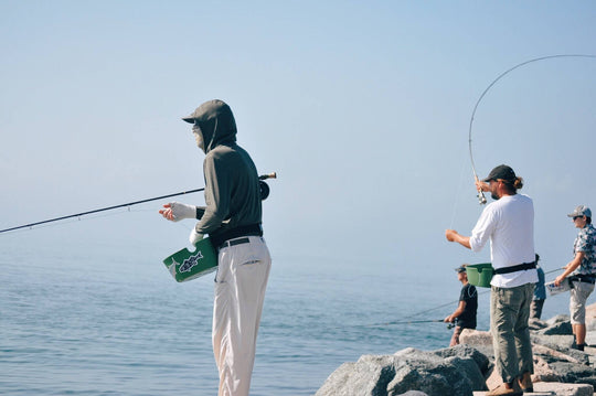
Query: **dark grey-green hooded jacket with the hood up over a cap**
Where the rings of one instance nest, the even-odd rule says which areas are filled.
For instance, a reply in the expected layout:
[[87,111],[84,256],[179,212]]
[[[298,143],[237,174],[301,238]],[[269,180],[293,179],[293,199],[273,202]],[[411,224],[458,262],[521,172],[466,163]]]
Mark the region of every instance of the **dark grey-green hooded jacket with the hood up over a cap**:
[[201,130],[206,154],[203,162],[206,207],[204,212],[198,208],[200,222],[195,228],[199,234],[209,234],[219,245],[234,231],[260,225],[258,174],[248,153],[236,145],[236,121],[225,103],[206,101],[192,118]]

